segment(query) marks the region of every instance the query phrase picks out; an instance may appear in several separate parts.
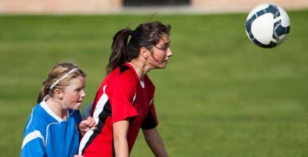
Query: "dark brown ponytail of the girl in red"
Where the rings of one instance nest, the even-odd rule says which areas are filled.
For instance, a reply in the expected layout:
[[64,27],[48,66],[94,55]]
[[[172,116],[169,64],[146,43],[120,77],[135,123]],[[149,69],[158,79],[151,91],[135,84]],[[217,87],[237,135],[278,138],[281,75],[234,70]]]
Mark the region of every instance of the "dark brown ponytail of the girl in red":
[[132,35],[132,30],[127,28],[118,31],[116,35],[113,36],[111,55],[109,57],[109,63],[106,66],[107,74],[127,61],[127,41],[130,35]]

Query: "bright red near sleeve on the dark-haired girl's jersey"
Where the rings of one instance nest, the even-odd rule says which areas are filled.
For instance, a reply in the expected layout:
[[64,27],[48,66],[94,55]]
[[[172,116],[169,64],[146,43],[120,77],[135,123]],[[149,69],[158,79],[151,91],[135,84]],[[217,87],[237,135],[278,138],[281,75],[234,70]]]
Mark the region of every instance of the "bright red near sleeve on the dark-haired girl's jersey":
[[132,105],[135,94],[136,85],[130,73],[122,74],[109,83],[112,123],[137,116],[137,111]]

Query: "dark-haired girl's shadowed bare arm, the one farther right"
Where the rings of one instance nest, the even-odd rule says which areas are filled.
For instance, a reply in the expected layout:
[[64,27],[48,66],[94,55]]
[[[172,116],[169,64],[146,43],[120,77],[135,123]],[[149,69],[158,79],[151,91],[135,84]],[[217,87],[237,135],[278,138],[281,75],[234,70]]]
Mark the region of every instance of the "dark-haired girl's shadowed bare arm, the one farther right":
[[144,130],[144,138],[156,157],[168,157],[162,137],[160,137],[160,133],[156,128]]

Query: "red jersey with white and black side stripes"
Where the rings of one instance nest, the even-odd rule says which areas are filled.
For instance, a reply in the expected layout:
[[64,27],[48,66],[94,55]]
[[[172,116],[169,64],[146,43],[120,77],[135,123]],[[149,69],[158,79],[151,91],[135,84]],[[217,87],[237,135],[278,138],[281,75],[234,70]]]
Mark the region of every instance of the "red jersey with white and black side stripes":
[[92,107],[96,130],[90,130],[80,142],[79,154],[85,157],[116,156],[113,146],[112,124],[129,119],[127,133],[129,151],[132,151],[140,128],[158,125],[153,105],[155,87],[146,75],[141,82],[130,63],[118,66],[100,85]]

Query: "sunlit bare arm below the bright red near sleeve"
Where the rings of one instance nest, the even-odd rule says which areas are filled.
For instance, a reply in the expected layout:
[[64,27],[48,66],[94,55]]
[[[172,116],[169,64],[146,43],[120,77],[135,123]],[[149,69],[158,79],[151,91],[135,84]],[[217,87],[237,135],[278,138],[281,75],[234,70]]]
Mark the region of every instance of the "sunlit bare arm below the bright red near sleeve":
[[128,157],[127,130],[130,122],[117,121],[113,124],[113,139],[116,157]]

